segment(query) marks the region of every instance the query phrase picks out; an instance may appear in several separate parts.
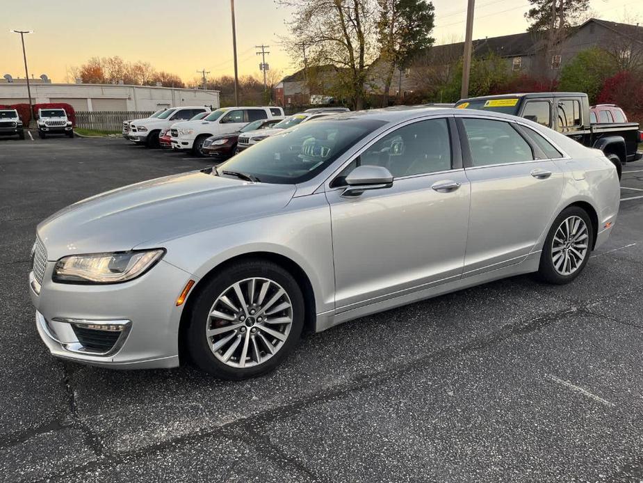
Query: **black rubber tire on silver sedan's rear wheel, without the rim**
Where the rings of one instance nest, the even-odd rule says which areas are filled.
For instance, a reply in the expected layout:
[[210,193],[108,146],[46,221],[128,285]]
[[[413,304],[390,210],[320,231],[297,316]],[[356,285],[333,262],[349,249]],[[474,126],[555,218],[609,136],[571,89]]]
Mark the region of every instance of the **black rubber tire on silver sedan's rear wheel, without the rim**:
[[[554,266],[554,255],[552,250],[554,237],[558,228],[564,220],[569,219],[571,216],[577,216],[585,222],[587,228],[587,239],[584,241],[587,242],[587,249],[585,250],[584,258],[580,264],[578,264],[578,267],[571,274],[564,275],[560,274]],[[558,216],[556,216],[556,219],[552,223],[545,239],[545,243],[540,254],[540,264],[538,268],[539,278],[546,283],[552,283],[555,285],[563,285],[571,282],[571,280],[580,275],[583,269],[585,269],[587,260],[589,260],[589,254],[592,253],[592,246],[594,246],[594,228],[592,226],[592,220],[589,219],[589,215],[585,212],[585,209],[577,206],[565,208]]]

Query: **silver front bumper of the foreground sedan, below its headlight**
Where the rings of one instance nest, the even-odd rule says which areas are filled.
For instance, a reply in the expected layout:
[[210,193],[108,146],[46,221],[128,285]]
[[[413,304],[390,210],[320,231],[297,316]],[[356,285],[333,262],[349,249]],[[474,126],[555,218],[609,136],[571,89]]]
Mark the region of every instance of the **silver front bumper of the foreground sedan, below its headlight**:
[[190,274],[161,260],[126,283],[74,285],[51,280],[54,264],[47,262],[42,285],[29,277],[36,327],[52,355],[127,369],[179,365],[184,306],[175,302]]

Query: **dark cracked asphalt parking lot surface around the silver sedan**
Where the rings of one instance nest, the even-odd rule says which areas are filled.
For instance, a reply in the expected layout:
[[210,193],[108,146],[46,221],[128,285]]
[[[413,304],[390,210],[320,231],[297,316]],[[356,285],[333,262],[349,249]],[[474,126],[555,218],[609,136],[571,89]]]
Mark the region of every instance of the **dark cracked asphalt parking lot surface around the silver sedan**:
[[250,381],[52,358],[27,292],[35,225],[204,166],[122,139],[0,139],[0,481],[643,481],[641,161],[571,285],[521,276],[359,319]]

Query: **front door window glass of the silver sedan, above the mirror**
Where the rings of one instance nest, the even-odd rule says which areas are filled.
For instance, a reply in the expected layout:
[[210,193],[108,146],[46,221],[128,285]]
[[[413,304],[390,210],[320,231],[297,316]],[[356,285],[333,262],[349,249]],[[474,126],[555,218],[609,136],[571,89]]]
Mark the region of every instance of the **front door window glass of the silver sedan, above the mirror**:
[[384,166],[393,177],[447,171],[451,169],[447,121],[430,119],[400,127],[361,153],[357,164]]

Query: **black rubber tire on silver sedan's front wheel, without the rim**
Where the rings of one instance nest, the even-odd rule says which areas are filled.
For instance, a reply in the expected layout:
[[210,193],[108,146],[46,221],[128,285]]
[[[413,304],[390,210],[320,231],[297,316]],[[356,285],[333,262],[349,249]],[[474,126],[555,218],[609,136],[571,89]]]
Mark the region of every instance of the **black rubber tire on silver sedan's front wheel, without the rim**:
[[[206,328],[210,327],[211,319],[209,314],[218,297],[229,290],[231,285],[242,280],[247,280],[248,278],[266,278],[279,284],[291,302],[292,322],[286,340],[284,340],[274,355],[257,365],[243,368],[232,367],[220,361],[214,355],[210,348],[211,341],[206,337]],[[246,379],[270,372],[290,354],[300,340],[304,326],[304,297],[293,276],[275,263],[256,259],[229,265],[229,267],[220,271],[215,278],[207,281],[203,287],[198,287],[197,292],[193,296],[195,296],[195,299],[190,303],[190,312],[188,313],[188,319],[186,319],[188,328],[185,332],[184,347],[187,355],[197,367],[216,377],[222,379]],[[245,296],[247,297],[247,292]],[[268,298],[269,297],[266,296],[266,299]],[[255,299],[258,300],[258,297],[255,296]],[[235,303],[238,304],[238,299]],[[248,318],[250,319],[250,317]],[[229,324],[232,323],[238,324],[239,322],[229,322]],[[222,322],[222,324],[225,324],[225,322]],[[270,327],[273,326],[271,325]],[[243,340],[244,337],[250,338],[252,337],[250,330],[250,328],[245,329],[245,326],[241,326],[241,328],[235,331],[235,333],[237,333],[236,337],[241,335],[241,340]],[[257,330],[257,328],[254,328],[254,330]],[[227,333],[229,333],[229,331]],[[245,333],[245,335],[243,335],[243,333]],[[268,336],[268,338],[270,338],[270,336]],[[235,340],[236,338],[234,338],[232,342],[235,342]],[[262,347],[265,346],[262,344]],[[220,349],[220,354],[223,353],[224,348],[229,349],[228,346],[223,346],[222,349]],[[264,351],[263,357],[267,355],[268,351]],[[252,354],[249,353],[249,357],[252,361]],[[237,361],[241,361],[241,356],[238,356]]]

